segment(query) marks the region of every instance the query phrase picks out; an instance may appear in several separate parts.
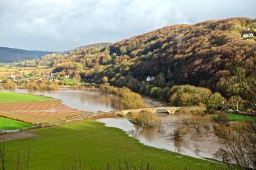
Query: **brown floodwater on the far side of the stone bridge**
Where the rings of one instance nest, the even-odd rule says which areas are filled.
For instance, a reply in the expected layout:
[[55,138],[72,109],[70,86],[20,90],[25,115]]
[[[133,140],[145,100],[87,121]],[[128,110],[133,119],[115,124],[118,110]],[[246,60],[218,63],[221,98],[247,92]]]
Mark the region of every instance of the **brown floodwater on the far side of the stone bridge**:
[[[1,89],[1,91],[10,92],[10,90]],[[18,89],[11,92],[45,95],[62,100],[62,103],[74,109],[85,110],[90,112],[110,111],[123,109],[121,98],[118,95],[106,94],[102,92],[93,92],[79,89],[62,88],[60,90],[29,90]],[[167,103],[154,100],[149,97],[142,97],[143,101],[149,107],[167,106]]]

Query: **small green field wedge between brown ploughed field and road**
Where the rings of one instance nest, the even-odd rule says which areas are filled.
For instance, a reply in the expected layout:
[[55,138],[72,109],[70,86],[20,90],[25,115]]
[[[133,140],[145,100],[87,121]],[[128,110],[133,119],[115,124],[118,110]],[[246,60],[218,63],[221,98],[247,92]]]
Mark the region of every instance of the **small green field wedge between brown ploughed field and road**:
[[21,129],[24,127],[31,127],[31,126],[33,126],[33,125],[29,124],[29,123],[12,120],[10,118],[0,117],[0,129],[14,130],[14,129]]

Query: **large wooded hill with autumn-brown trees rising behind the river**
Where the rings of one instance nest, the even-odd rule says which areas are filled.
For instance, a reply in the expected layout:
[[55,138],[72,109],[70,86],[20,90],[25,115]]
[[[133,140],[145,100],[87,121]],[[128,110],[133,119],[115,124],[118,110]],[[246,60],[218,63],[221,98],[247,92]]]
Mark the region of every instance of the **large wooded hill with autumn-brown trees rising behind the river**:
[[[256,37],[242,39],[244,33],[256,35],[256,29],[248,29],[252,27],[256,28],[256,19],[250,18],[172,25],[110,46],[46,55],[26,65],[56,66],[55,72],[91,83],[103,83],[102,77],[107,76],[114,86],[148,95],[152,87],[163,92],[163,88],[191,84],[229,98],[239,93],[230,83],[232,64],[242,64],[244,72],[255,69]],[[155,80],[146,81],[148,76]]]

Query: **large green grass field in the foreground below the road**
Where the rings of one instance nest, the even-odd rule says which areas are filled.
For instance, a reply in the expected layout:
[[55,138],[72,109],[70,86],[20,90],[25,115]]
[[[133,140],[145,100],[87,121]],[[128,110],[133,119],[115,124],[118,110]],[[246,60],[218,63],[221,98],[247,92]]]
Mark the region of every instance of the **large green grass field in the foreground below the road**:
[[[77,121],[28,132],[35,134],[29,139],[29,169],[63,169],[62,163],[66,165],[73,161],[75,151],[77,157],[80,155],[82,162],[85,161],[87,168],[91,165],[102,167],[108,161],[112,165],[111,169],[116,169],[113,166],[118,165],[117,157],[121,165],[124,165],[126,158],[129,164],[140,165],[142,161],[146,167],[149,162],[154,169],[162,170],[183,169],[185,166],[190,169],[211,169],[212,164],[207,160],[145,146],[120,129],[105,127],[104,123],[96,120]],[[15,169],[13,155],[17,156],[17,148],[20,149],[23,169],[26,169],[27,140],[6,141],[5,146],[8,147],[5,169]]]

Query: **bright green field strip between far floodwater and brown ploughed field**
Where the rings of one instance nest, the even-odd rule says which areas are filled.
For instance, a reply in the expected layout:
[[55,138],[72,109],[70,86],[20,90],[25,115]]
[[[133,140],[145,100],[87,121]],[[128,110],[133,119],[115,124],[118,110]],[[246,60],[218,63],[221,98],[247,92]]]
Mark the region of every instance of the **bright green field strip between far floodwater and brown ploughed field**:
[[39,95],[17,94],[12,92],[0,92],[0,102],[9,101],[51,101],[53,98],[42,97]]

